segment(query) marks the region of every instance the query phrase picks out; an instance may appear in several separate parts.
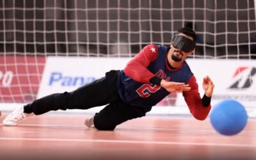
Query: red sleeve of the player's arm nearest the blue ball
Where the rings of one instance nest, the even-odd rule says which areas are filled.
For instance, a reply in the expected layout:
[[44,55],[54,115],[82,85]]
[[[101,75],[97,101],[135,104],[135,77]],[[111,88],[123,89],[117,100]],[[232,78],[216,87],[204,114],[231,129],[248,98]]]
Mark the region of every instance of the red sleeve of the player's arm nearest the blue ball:
[[203,106],[202,98],[198,92],[198,84],[196,83],[196,78],[194,75],[191,76],[188,84],[191,87],[191,90],[182,93],[184,99],[195,119],[204,120],[211,110],[211,105],[207,107]]

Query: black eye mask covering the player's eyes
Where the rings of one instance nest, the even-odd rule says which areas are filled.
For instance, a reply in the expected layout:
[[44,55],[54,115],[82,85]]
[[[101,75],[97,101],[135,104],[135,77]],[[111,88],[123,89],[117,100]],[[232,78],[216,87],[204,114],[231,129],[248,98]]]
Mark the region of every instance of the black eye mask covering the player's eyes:
[[172,39],[173,47],[182,50],[183,52],[189,52],[195,48],[196,43],[186,36],[176,35]]

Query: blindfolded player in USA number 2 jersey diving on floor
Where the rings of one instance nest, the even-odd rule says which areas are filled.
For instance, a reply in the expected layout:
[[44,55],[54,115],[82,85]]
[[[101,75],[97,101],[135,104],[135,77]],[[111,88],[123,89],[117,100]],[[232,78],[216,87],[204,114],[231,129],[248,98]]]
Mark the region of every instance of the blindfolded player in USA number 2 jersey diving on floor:
[[106,105],[84,124],[99,130],[113,130],[122,122],[145,116],[170,92],[182,92],[191,114],[195,119],[204,120],[211,110],[214,84],[209,76],[205,76],[205,94],[201,98],[196,78],[185,61],[195,51],[195,45],[195,32],[189,28],[179,29],[170,48],[147,45],[124,70],[111,70],[103,78],[73,92],[36,99],[10,113],[3,124],[17,126],[26,117],[51,110],[86,110]]

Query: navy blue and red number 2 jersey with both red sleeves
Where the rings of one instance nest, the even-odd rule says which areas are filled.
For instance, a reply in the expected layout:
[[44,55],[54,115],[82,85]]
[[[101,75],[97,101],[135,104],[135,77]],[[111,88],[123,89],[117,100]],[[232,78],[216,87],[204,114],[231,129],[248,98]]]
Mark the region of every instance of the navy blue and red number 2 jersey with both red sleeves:
[[161,45],[147,45],[129,61],[118,75],[120,98],[130,105],[150,108],[170,94],[163,87],[150,84],[150,78],[158,76],[170,82],[184,82],[191,87],[190,91],[182,92],[190,112],[196,119],[205,119],[211,105],[202,105],[196,78],[186,61],[179,68],[170,68],[167,59],[169,50]]

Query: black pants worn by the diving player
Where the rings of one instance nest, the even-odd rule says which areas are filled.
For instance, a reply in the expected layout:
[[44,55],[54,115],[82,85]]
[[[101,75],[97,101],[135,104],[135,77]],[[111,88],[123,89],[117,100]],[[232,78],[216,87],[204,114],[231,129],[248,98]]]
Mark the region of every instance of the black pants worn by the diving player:
[[51,110],[82,109],[107,105],[94,116],[94,126],[100,130],[113,130],[126,120],[145,116],[148,111],[140,106],[124,103],[117,91],[118,71],[109,71],[106,76],[73,92],[51,94],[36,99],[24,106],[24,112],[40,115]]

